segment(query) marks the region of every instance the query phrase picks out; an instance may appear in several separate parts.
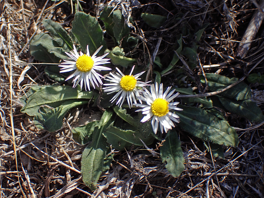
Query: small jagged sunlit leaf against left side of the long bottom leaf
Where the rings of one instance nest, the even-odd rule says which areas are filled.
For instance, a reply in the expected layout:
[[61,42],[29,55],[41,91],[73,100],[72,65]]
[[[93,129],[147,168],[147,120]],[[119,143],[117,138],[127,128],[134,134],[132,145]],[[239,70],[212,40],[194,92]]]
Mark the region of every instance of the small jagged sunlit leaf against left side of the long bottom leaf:
[[[87,125],[79,126],[72,129],[72,133],[75,138],[81,140],[81,144],[86,144],[92,140],[92,133],[95,130],[95,127],[98,125],[99,121],[89,122]],[[79,142],[79,141],[78,141]]]

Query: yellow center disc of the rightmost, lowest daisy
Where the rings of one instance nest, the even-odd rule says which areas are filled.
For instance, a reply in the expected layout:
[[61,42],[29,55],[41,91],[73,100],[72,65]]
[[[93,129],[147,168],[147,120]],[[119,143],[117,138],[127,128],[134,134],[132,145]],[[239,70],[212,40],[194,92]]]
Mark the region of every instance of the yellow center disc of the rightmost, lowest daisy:
[[156,116],[164,116],[169,112],[169,102],[162,98],[157,98],[151,105],[151,111]]

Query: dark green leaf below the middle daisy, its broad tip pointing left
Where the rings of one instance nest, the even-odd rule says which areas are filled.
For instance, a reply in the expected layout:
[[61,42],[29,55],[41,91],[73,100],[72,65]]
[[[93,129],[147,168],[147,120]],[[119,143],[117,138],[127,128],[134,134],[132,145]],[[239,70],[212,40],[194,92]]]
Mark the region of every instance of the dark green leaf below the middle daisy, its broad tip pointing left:
[[143,146],[140,139],[146,145],[152,144],[155,139],[153,136],[145,138],[139,132],[123,130],[115,126],[110,126],[103,134],[107,138],[107,142],[118,150],[124,150],[124,148],[131,147],[132,145]]

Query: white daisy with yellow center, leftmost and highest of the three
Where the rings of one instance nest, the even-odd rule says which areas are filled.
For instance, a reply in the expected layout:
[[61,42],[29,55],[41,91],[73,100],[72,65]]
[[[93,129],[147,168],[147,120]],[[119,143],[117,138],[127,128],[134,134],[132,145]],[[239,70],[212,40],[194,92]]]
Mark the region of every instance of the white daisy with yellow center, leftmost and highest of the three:
[[92,56],[90,56],[88,45],[87,45],[87,54],[83,54],[80,51],[80,55],[79,55],[74,45],[73,45],[73,52],[72,51],[70,52],[71,54],[65,52],[74,61],[64,60],[65,62],[59,65],[59,67],[62,67],[60,73],[70,72],[75,70],[75,72],[71,74],[68,78],[66,78],[65,81],[74,77],[72,80],[73,82],[72,87],[75,88],[77,84],[81,82],[80,83],[81,89],[84,84],[85,91],[87,91],[86,87],[88,87],[88,90],[90,91],[89,81],[91,82],[94,89],[95,89],[95,84],[97,87],[99,87],[98,83],[103,84],[101,78],[104,77],[98,74],[96,70],[111,70],[111,69],[108,67],[101,66],[101,64],[110,63],[107,62],[110,59],[104,58],[109,53],[96,57],[96,54],[100,51],[102,47],[103,46],[101,45],[100,48],[98,48]]

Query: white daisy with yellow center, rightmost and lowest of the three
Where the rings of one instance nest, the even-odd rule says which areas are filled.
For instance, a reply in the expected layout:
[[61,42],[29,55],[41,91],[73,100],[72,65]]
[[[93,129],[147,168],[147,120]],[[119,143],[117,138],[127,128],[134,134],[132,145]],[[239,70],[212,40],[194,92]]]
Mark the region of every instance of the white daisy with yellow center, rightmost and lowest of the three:
[[140,96],[139,99],[147,102],[147,105],[134,104],[138,107],[143,108],[136,111],[142,111],[142,114],[146,114],[142,118],[141,122],[145,122],[153,116],[151,125],[154,133],[157,133],[158,123],[161,133],[163,133],[163,130],[165,131],[165,133],[167,133],[169,129],[172,129],[172,126],[175,127],[172,121],[179,122],[180,118],[180,116],[178,116],[174,112],[170,112],[170,110],[183,110],[176,107],[179,102],[171,102],[175,97],[179,95],[179,93],[172,95],[175,92],[174,89],[168,94],[171,87],[168,87],[167,90],[163,93],[163,84],[161,83],[158,87],[157,82],[155,86],[154,84],[150,85],[150,92],[146,88],[144,89],[145,91],[142,92],[143,96]]

